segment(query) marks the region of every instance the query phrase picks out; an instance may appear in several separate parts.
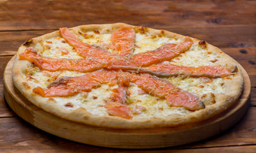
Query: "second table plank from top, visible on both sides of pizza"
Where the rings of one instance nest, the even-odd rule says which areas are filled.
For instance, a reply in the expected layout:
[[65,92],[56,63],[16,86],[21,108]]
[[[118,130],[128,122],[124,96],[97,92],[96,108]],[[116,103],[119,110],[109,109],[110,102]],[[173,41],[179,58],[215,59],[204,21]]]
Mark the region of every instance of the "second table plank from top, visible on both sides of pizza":
[[[174,33],[184,34],[205,40],[208,43],[220,48],[250,48],[248,52],[255,52],[256,47],[256,25],[223,25],[209,27],[157,27]],[[42,31],[6,31],[0,33],[0,51],[15,51],[22,43],[30,38],[51,33],[55,30]]]

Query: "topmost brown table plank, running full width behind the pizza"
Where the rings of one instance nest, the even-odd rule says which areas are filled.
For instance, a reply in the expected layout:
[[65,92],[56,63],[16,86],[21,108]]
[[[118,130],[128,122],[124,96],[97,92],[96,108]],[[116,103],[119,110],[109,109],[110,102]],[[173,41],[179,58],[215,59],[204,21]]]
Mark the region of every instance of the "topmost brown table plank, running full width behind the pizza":
[[[82,24],[161,26],[256,24],[255,1],[6,1],[0,30],[56,29]],[[72,12],[72,13],[71,13]],[[250,18],[250,20],[248,20]]]

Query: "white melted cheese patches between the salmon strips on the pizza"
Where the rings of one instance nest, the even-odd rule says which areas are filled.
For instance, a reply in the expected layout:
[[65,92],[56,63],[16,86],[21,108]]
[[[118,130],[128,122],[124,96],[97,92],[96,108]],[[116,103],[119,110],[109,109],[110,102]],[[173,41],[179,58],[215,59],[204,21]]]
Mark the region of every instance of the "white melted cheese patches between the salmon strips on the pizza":
[[[84,43],[89,43],[91,45],[102,45],[102,43],[110,43],[111,34],[95,34],[92,31],[86,32],[86,34],[93,34],[93,36],[89,38],[84,38],[81,35],[76,36]],[[166,43],[179,43],[180,41],[182,40],[175,40],[173,38],[167,38],[164,36],[154,36],[152,38],[152,36],[148,34],[136,33],[136,47],[134,48],[134,54],[140,54],[141,52],[147,52],[148,50],[155,50],[156,48],[159,48]],[[42,47],[44,48],[44,50],[43,52],[39,52],[39,54],[44,57],[51,58],[83,59],[82,57],[77,55],[76,51],[72,46],[68,45],[68,43],[63,42],[63,38],[51,38],[49,40],[45,40],[42,43]],[[68,50],[67,55],[61,54],[61,47],[64,47]],[[111,52],[111,50],[109,50],[109,52]],[[172,61],[170,61],[170,63],[182,66],[218,65],[218,61],[211,62],[214,59],[218,59],[218,55],[209,54],[207,53],[207,50],[200,48],[198,47],[198,45],[194,44],[187,52],[180,54],[178,57],[175,57],[174,59],[172,59]],[[32,64],[28,65],[28,73],[31,75],[31,77],[33,77],[33,79],[28,80],[32,88],[37,86],[46,88],[47,85],[51,84],[51,82],[54,81],[54,79],[63,76],[76,77],[79,75],[84,75],[84,73],[79,73],[76,71],[42,71],[41,69],[34,67]],[[207,92],[212,92],[214,94],[225,92],[225,88],[220,85],[223,83],[223,79],[221,78],[214,78],[212,79],[211,83],[200,82],[200,78],[190,78],[184,76],[163,79],[168,80],[173,85],[177,85],[185,91],[194,92],[200,96]],[[204,87],[202,88],[202,86],[200,87],[200,85],[203,85]],[[117,86],[115,85],[110,88],[113,89],[115,87]],[[65,109],[74,110],[76,108],[83,107],[93,115],[104,116],[108,115],[108,113],[106,112],[106,108],[104,108],[104,100],[108,99],[111,95],[111,91],[109,91],[108,88],[109,86],[104,84],[97,89],[93,89],[92,92],[88,93],[88,95],[76,94],[75,96],[65,98],[57,97],[54,99],[56,100],[58,105]],[[145,112],[134,115],[134,119],[150,119],[153,117],[163,118],[170,115],[186,115],[190,113],[189,110],[186,110],[182,107],[168,106],[166,104],[166,100],[164,99],[159,99],[154,96],[150,96],[149,94],[140,94],[140,90],[141,89],[138,88],[137,85],[131,83],[131,86],[129,87],[129,91],[131,92],[131,95],[128,99],[129,106],[131,106],[132,104],[136,104],[147,108]],[[72,102],[74,106],[72,108],[65,107],[65,104],[68,102]]]

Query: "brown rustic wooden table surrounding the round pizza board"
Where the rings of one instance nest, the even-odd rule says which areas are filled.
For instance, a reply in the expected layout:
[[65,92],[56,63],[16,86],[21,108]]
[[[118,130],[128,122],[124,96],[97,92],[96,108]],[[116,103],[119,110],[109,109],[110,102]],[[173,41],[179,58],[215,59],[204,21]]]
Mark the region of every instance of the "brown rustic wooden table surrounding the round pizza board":
[[3,71],[19,45],[58,27],[124,22],[205,40],[246,69],[244,117],[220,135],[178,147],[132,152],[256,152],[256,1],[0,1],[0,152],[131,152],[71,142],[20,119],[4,100]]

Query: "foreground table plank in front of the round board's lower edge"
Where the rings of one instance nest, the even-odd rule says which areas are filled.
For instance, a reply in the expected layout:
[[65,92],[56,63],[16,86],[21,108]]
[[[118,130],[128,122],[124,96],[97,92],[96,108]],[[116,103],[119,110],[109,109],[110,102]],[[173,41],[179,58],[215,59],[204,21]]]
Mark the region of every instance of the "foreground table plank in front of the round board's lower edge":
[[[150,150],[132,150],[134,152],[168,152],[170,150],[180,150],[180,149],[196,149],[196,148],[207,148],[207,152],[211,151],[211,147],[220,148],[225,150],[225,147],[234,145],[246,145],[250,148],[251,145],[256,145],[256,108],[250,108],[243,119],[236,124],[233,128],[229,129],[225,133],[215,136],[214,138],[209,138],[202,142],[193,143],[189,145],[183,145],[180,147],[172,147],[165,149],[150,149]],[[0,149],[19,149],[24,150],[38,150],[43,152],[44,150],[58,150],[59,152],[129,152],[131,150],[125,149],[108,149],[104,147],[93,147],[90,145],[84,145],[81,143],[75,143],[56,136],[52,136],[40,129],[37,129],[27,122],[19,119],[18,117],[12,118],[0,118]],[[60,149],[60,150],[59,150]],[[196,149],[196,152],[200,149]],[[181,150],[180,150],[181,151]],[[206,150],[204,150],[206,151]],[[213,150],[212,150],[213,152]]]

